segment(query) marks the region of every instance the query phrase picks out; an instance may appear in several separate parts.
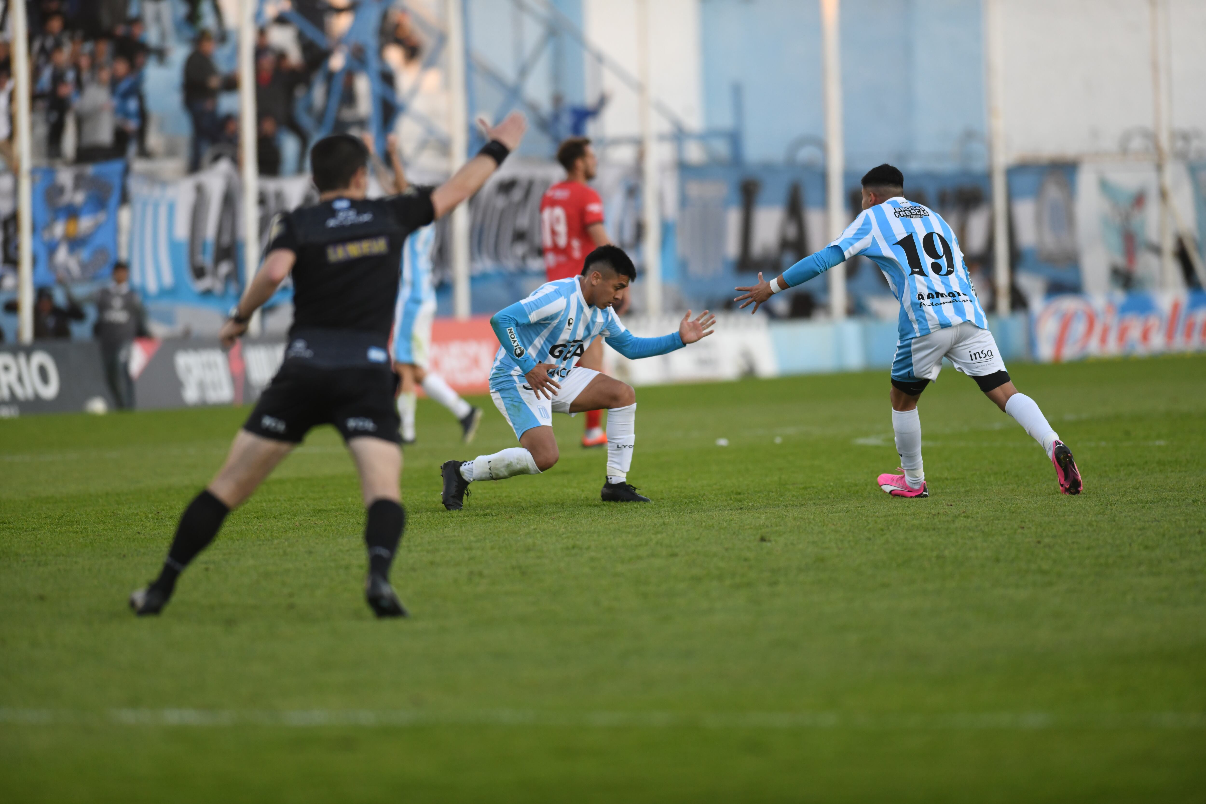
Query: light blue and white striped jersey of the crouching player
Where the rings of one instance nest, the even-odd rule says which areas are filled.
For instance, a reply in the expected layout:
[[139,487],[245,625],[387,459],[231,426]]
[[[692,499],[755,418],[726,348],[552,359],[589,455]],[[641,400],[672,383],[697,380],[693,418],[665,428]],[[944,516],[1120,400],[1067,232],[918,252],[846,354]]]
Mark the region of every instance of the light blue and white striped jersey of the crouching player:
[[490,324],[500,344],[490,372],[491,388],[514,382],[539,363],[555,364],[563,377],[598,335],[633,359],[683,348],[678,333],[637,338],[615,310],[586,304],[576,276],[545,282],[528,298],[494,313]]

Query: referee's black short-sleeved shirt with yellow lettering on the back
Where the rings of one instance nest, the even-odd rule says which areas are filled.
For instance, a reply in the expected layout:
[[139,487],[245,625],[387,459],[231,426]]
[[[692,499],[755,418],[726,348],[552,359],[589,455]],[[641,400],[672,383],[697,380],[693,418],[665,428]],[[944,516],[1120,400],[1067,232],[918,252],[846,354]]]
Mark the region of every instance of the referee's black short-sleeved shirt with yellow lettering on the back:
[[297,254],[289,338],[350,330],[387,344],[403,243],[434,219],[432,188],[371,200],[336,198],[279,215],[268,252]]

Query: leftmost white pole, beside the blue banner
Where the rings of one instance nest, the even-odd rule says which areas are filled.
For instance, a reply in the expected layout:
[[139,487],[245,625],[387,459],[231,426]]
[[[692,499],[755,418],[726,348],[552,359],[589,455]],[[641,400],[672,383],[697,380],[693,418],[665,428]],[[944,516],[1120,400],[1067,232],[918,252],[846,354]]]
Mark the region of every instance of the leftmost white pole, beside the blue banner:
[[12,14],[12,64],[17,123],[17,340],[34,340],[34,186],[30,180],[33,152],[29,118],[29,22],[24,2],[10,2]]

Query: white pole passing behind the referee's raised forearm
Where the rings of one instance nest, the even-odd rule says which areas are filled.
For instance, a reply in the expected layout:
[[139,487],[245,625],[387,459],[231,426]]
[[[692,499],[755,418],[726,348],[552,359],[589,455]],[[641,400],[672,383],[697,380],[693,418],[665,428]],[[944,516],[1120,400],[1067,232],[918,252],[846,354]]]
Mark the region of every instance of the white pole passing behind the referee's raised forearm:
[[[462,0],[445,0],[449,28],[449,175],[466,163],[469,151],[469,113],[466,72],[468,49],[464,41],[464,17]],[[451,248],[452,260],[452,311],[457,318],[468,318],[473,310],[469,293],[469,203],[457,204],[452,210]]]

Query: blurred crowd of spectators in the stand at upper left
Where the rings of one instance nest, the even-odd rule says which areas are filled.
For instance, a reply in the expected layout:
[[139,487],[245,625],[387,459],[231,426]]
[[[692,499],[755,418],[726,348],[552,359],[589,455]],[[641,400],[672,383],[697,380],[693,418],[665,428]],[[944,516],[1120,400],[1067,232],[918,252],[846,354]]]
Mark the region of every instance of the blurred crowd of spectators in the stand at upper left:
[[[21,1],[21,0],[18,0]],[[0,30],[6,29],[8,2],[0,0]],[[238,89],[234,74],[223,70],[215,58],[217,45],[227,39],[218,0],[25,0],[29,24],[31,111],[34,115],[35,164],[62,165],[68,159],[95,163],[115,158],[148,157],[146,149],[147,104],[144,81],[148,64],[165,65],[172,51],[188,52],[181,59],[180,99],[192,123],[192,142],[185,152],[188,170],[204,168],[216,158],[240,158],[239,119],[222,115],[219,95]],[[334,8],[324,0],[294,0],[293,8],[311,24],[338,30],[335,17],[349,10]],[[210,10],[211,13],[210,13]],[[213,33],[201,28],[203,17],[216,22]],[[288,24],[281,20],[277,25]],[[188,45],[192,42],[192,45]],[[422,54],[421,40],[409,14],[390,10],[381,22],[382,82],[393,86],[393,69],[415,63]],[[356,48],[361,45],[356,45]],[[191,49],[189,49],[191,48]],[[10,43],[0,39],[0,170],[16,171],[13,148],[13,78]],[[386,54],[392,53],[392,58]],[[346,58],[346,53],[338,58]],[[351,51],[353,60],[357,51]],[[364,134],[373,111],[373,92],[363,71],[341,71],[332,51],[303,36],[260,30],[256,45],[254,92],[258,108],[257,146],[260,175],[279,176],[282,170],[304,172],[309,145],[314,139],[311,121],[300,113],[300,99],[314,86],[315,76],[327,65],[327,81],[314,86],[314,119],[323,119],[326,101],[339,94],[334,130]],[[152,61],[154,60],[154,61]],[[175,61],[178,64],[181,61]],[[163,69],[159,66],[156,70]],[[169,68],[171,69],[171,68]],[[178,69],[178,68],[175,68]],[[172,69],[175,71],[175,69]],[[159,78],[157,77],[157,81]],[[156,102],[163,102],[157,99]],[[169,100],[169,102],[171,102]],[[390,101],[380,110],[391,119]],[[300,119],[299,119],[300,116]],[[74,136],[71,131],[74,130]],[[281,135],[289,133],[299,147],[289,152],[287,166]],[[72,147],[74,141],[74,147]],[[292,154],[297,154],[293,164]],[[7,225],[7,223],[6,223]],[[10,235],[6,235],[8,237]],[[7,242],[7,240],[6,240]],[[116,276],[127,276],[115,269]],[[115,284],[112,298],[137,307],[125,281]],[[109,299],[110,297],[105,297]],[[72,322],[84,319],[84,306],[98,305],[99,297],[77,299],[66,286],[37,288],[34,311],[36,339],[71,336]],[[6,300],[11,312],[14,301]],[[139,324],[141,331],[142,324]],[[78,327],[76,327],[78,329]],[[96,333],[99,338],[99,333]],[[0,328],[0,339],[4,330]],[[122,336],[122,340],[125,335]],[[110,339],[112,340],[112,339]],[[117,393],[117,389],[115,389]],[[118,394],[121,395],[121,394]]]

